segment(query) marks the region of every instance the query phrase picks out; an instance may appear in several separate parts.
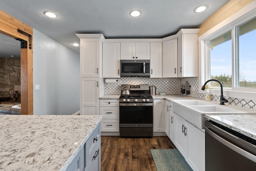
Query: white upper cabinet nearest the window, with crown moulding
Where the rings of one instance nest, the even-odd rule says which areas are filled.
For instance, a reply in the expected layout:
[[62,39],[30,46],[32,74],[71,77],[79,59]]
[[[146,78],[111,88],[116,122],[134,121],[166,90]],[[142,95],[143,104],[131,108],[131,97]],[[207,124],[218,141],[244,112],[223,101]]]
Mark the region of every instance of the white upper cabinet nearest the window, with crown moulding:
[[[198,31],[178,36],[178,77],[198,77]],[[197,32],[197,33],[196,33]]]

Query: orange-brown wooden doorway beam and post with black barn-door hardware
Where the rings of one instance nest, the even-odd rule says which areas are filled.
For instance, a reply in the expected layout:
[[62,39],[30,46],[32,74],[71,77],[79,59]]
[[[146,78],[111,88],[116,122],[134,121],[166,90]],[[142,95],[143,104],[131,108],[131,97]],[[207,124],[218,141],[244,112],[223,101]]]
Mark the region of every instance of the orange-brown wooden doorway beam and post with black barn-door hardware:
[[[0,10],[0,33],[28,42],[28,36],[18,33],[18,29],[33,36],[33,28]],[[32,38],[33,40],[33,38]],[[21,114],[33,115],[33,43],[32,49],[20,51],[21,74]]]

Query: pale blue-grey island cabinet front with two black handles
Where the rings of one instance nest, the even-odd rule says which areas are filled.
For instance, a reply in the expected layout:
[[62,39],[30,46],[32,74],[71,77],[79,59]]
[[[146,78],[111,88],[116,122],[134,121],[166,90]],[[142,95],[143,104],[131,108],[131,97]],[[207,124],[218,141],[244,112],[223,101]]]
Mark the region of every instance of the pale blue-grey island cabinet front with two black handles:
[[84,147],[84,167],[88,170],[92,161],[100,156],[100,125],[96,127],[92,135],[86,141]]

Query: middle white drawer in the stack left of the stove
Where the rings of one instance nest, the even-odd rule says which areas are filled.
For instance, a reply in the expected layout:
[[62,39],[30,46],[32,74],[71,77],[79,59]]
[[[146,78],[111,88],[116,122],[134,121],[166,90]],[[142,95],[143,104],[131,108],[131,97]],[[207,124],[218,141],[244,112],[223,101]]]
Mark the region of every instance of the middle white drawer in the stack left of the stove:
[[103,119],[119,119],[119,107],[100,107]]

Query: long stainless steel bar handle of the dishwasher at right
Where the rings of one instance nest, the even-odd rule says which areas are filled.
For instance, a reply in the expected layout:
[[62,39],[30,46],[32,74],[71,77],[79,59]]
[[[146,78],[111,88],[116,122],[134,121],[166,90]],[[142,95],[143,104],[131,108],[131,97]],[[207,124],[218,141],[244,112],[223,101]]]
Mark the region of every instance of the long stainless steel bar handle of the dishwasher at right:
[[[223,145],[225,145],[226,147],[236,151],[237,153],[239,153],[240,155],[246,157],[247,159],[256,162],[256,156],[245,151],[244,149],[241,149],[239,147],[237,147],[236,145],[230,143],[229,141],[227,141],[226,139],[220,137],[219,135],[217,135],[216,133],[212,132],[210,129],[208,129],[206,126],[204,126],[204,129],[207,133],[210,134],[210,136],[212,136],[214,139],[218,140],[220,143],[222,143]],[[218,129],[218,128],[217,128]],[[220,131],[222,129],[219,129]]]

